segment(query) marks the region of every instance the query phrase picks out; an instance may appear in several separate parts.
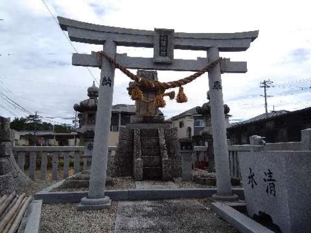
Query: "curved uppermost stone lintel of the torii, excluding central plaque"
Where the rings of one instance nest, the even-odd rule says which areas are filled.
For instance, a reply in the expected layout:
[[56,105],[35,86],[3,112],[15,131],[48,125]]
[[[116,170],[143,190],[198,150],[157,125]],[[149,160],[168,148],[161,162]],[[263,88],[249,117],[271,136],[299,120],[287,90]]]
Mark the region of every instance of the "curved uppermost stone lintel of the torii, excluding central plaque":
[[[68,31],[70,40],[89,44],[103,44],[113,40],[119,46],[153,48],[155,31],[126,29],[81,22],[57,17],[62,30]],[[159,29],[161,30],[161,29]],[[162,30],[165,31],[165,30]],[[217,47],[219,51],[245,51],[258,37],[259,31],[242,33],[173,33],[173,49],[207,50]]]

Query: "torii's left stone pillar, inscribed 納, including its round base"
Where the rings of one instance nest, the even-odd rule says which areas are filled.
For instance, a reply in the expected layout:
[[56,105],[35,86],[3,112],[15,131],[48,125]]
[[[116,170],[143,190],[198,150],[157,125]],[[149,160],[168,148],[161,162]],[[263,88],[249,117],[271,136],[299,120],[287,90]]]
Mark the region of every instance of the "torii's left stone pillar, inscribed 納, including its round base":
[[[105,41],[103,50],[114,58],[117,51],[116,43]],[[78,210],[104,209],[111,203],[109,197],[104,195],[104,190],[114,76],[115,67],[103,57],[88,195],[81,199]]]

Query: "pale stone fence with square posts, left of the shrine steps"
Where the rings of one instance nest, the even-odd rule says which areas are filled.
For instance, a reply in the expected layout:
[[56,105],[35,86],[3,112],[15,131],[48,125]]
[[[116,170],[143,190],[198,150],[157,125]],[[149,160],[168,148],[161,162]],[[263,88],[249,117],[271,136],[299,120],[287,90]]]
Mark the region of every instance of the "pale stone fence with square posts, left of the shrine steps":
[[[117,147],[109,147],[108,159],[110,161],[112,151],[115,151]],[[52,180],[58,179],[58,162],[59,159],[64,160],[63,178],[69,176],[69,162],[70,158],[73,158],[73,170],[74,174],[80,172],[80,159],[84,160],[84,168],[86,167],[86,159],[89,157],[84,156],[85,147],[13,147],[13,152],[17,157],[17,164],[19,168],[24,171],[25,157],[29,156],[29,177],[35,179],[36,170],[36,158],[40,156],[40,179],[46,180],[47,178],[47,165],[48,156],[52,156]],[[27,170],[27,168],[26,168]]]

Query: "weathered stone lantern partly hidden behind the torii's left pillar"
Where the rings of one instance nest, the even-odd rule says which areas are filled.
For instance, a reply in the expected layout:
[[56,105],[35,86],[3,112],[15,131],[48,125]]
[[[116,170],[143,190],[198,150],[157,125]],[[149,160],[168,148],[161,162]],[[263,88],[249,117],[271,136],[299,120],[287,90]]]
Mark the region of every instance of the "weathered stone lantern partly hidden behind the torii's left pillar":
[[93,82],[93,85],[87,88],[89,99],[82,100],[80,104],[76,103],[73,105],[73,109],[79,112],[79,129],[77,132],[81,135],[81,141],[85,146],[84,170],[90,170],[91,166],[98,93],[99,88]]

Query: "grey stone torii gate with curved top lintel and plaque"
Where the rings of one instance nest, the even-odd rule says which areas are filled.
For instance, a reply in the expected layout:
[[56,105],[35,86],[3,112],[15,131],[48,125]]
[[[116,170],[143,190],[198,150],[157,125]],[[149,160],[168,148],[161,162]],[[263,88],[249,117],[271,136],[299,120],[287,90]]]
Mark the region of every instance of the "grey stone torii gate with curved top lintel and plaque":
[[[103,45],[104,52],[129,69],[199,71],[207,63],[219,59],[219,52],[245,51],[250,47],[259,31],[242,33],[174,33],[174,30],[155,31],[126,29],[90,24],[58,17],[62,30],[68,31],[71,41]],[[153,58],[129,57],[118,54],[117,46],[154,48]],[[197,60],[174,59],[174,49],[205,50],[206,58]],[[72,65],[99,67],[97,53],[72,55]],[[236,200],[230,183],[229,159],[225,131],[224,101],[221,73],[245,73],[246,62],[222,60],[208,72],[211,102],[211,121],[215,168],[217,174],[217,194],[215,200]],[[83,198],[79,209],[102,209],[110,205],[104,195],[108,135],[115,67],[107,59],[102,59],[101,81],[96,115],[94,149],[88,196]]]

